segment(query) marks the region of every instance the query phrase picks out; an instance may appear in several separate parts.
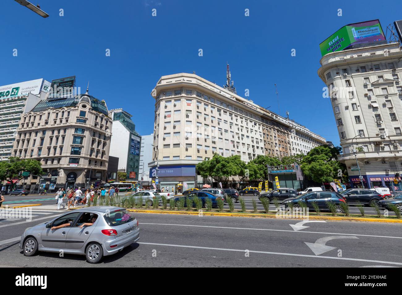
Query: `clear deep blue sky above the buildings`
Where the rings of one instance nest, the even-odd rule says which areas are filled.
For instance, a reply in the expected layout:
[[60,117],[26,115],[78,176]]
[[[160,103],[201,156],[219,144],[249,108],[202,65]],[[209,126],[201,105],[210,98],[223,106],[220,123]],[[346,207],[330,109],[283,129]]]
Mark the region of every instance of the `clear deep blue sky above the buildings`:
[[[33,2],[31,0],[31,2]],[[150,92],[162,75],[196,72],[224,85],[226,62],[238,94],[339,144],[324,83],[319,43],[341,26],[402,18],[400,1],[34,0],[42,18],[2,0],[0,85],[76,75],[77,86],[109,109],[133,114],[139,134],[153,131]],[[59,16],[59,9],[64,16]],[[157,16],[151,15],[156,8]],[[250,16],[244,16],[244,9]],[[337,16],[337,10],[343,16]],[[18,56],[12,50],[18,49]],[[203,49],[203,57],[198,49]],[[296,56],[291,56],[291,49]],[[105,56],[105,50],[111,56]]]

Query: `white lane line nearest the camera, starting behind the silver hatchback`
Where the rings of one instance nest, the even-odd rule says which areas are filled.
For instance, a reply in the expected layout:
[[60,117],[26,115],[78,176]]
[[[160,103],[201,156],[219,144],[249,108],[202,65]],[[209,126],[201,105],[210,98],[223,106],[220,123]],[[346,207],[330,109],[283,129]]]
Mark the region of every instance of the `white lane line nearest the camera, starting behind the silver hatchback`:
[[[242,252],[242,253],[246,252],[246,249],[213,248],[213,247],[202,247],[202,246],[191,246],[191,245],[160,244],[160,243],[150,243],[150,242],[138,242],[138,244],[140,244],[140,245],[142,244],[142,245],[178,247],[178,248],[193,248],[193,249],[202,249],[202,250],[232,251],[232,252]],[[369,262],[369,263],[392,264],[392,265],[401,265],[402,266],[402,262],[394,262],[394,261],[371,260],[371,259],[360,259],[360,258],[347,258],[347,257],[337,257],[337,256],[336,257],[332,257],[332,256],[315,256],[315,255],[307,255],[307,254],[256,251],[256,250],[248,250],[248,252],[250,252],[250,253],[258,253],[258,254],[297,256],[297,257],[316,258],[316,259],[333,259],[333,260]]]

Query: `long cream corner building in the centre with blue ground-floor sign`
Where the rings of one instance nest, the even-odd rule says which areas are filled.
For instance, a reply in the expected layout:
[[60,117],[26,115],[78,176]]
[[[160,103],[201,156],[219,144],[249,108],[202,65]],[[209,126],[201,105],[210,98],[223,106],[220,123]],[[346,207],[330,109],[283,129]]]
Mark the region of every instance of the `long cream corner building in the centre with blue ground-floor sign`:
[[[195,165],[210,159],[213,153],[239,155],[246,162],[258,155],[295,154],[291,138],[295,130],[304,132],[302,128],[295,129],[291,120],[195,74],[162,76],[152,95],[153,145],[158,149],[153,147],[148,166],[150,177],[155,180],[158,175],[161,187],[197,185],[203,179],[197,176]],[[311,148],[326,144],[324,138],[314,136]]]

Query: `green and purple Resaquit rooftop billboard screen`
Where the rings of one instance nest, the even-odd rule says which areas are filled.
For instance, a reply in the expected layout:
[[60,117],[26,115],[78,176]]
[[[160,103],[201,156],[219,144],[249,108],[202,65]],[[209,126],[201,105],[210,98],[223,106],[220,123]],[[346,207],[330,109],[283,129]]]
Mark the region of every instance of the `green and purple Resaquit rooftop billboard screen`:
[[379,20],[355,22],[343,26],[320,43],[321,55],[352,48],[386,43]]

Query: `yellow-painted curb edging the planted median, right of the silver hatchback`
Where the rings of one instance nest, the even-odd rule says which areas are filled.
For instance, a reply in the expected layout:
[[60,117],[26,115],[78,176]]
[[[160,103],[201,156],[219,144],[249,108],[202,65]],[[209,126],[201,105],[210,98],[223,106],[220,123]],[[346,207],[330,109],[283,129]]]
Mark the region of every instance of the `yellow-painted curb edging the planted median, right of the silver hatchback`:
[[[154,214],[179,214],[179,215],[199,215],[197,211],[154,211],[154,210],[141,210],[141,209],[127,209],[128,211],[138,213],[154,213]],[[234,213],[234,212],[202,212],[203,215],[209,216],[237,216],[237,217],[265,217],[265,218],[278,218],[278,219],[306,219],[304,216],[297,216],[293,218],[279,218],[274,214],[259,214],[259,213]],[[391,222],[402,223],[402,219],[385,219],[385,218],[359,218],[359,217],[343,217],[343,216],[308,216],[308,219],[325,219],[325,220],[349,220],[349,221],[367,221],[367,222]]]

